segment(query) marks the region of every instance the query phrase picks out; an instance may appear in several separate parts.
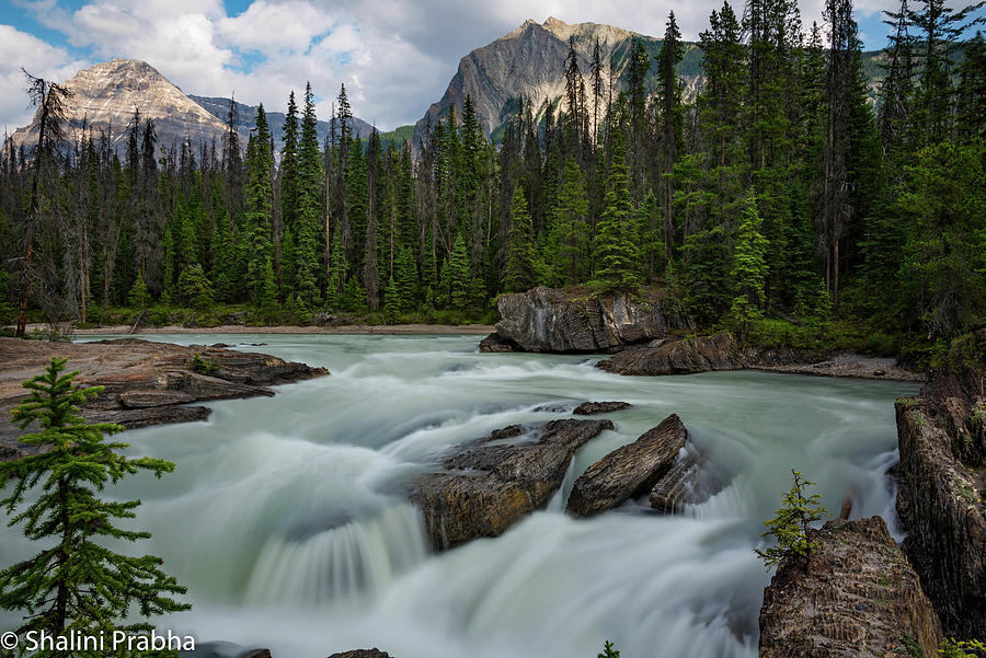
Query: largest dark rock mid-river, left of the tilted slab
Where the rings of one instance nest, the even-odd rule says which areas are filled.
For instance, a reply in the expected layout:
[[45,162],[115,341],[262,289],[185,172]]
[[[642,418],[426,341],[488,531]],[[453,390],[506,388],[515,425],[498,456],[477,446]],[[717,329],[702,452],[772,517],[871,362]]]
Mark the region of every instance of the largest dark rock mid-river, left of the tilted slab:
[[[530,437],[512,426],[456,449],[442,461],[442,471],[422,475],[409,487],[432,545],[447,550],[498,536],[543,508],[561,486],[575,451],[604,429],[612,429],[612,423],[551,420]],[[504,442],[517,437],[521,441]]]

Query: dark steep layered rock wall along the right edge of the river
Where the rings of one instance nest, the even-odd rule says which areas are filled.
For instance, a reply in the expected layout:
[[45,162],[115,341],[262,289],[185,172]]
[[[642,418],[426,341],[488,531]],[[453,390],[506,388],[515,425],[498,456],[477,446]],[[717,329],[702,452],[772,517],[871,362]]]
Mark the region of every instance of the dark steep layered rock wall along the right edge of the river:
[[986,637],[986,330],[953,342],[920,397],[897,401],[904,552],[944,631]]

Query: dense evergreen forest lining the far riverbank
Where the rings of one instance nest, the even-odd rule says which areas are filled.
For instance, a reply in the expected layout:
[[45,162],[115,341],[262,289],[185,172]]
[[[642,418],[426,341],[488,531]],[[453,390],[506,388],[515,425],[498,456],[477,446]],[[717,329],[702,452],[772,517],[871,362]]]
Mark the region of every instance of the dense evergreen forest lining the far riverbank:
[[793,0],[742,20],[724,2],[689,104],[672,13],[656,59],[634,44],[619,74],[598,43],[580,70],[573,42],[565,94],[519,100],[502,143],[467,96],[413,152],[354,138],[344,86],[319,143],[309,86],[277,153],[263,106],[241,151],[231,104],[208,145],[159,145],[138,109],[117,154],[104,131],[67,145],[71,100],[33,79],[37,149],[8,142],[0,163],[0,321],[221,303],[468,319],[535,285],[653,286],[707,326],[947,338],[986,316],[986,42],[961,41],[982,8],[885,12],[875,105],[851,0],[806,30]]

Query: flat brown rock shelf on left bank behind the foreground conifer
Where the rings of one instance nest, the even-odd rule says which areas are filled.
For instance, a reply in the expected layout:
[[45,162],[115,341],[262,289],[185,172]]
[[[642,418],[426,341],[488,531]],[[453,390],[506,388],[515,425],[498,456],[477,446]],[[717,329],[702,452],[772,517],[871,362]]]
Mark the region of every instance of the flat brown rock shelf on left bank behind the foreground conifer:
[[[21,382],[41,374],[51,357],[68,359],[76,383],[103,386],[82,408],[90,422],[127,428],[204,420],[209,409],[181,406],[208,400],[274,395],[268,386],[329,374],[324,368],[259,353],[137,338],[96,343],[46,343],[0,338],[0,459],[20,457],[20,430],[10,411],[25,396]],[[196,360],[197,357],[197,360]]]

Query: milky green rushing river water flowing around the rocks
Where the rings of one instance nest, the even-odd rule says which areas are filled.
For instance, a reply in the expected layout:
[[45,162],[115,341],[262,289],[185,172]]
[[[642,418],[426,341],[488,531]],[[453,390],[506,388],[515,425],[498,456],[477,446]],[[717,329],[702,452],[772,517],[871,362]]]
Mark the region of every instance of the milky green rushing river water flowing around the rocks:
[[[916,386],[765,372],[630,378],[595,358],[480,355],[478,337],[153,336],[225,343],[325,366],[272,399],[213,404],[209,422],[128,431],[133,454],[172,460],[114,495],[141,498],[141,552],[190,590],[158,621],[199,643],[320,658],[377,646],[397,658],[753,657],[769,574],[753,549],[796,467],[829,508],[894,521],[893,400]],[[265,343],[248,347],[246,343]],[[621,400],[573,460],[562,492],[495,540],[426,547],[402,483],[449,446],[553,403]],[[563,513],[574,477],[670,413],[727,486],[681,516],[641,503]],[[28,554],[0,530],[0,565]],[[10,616],[0,625],[12,626]]]

